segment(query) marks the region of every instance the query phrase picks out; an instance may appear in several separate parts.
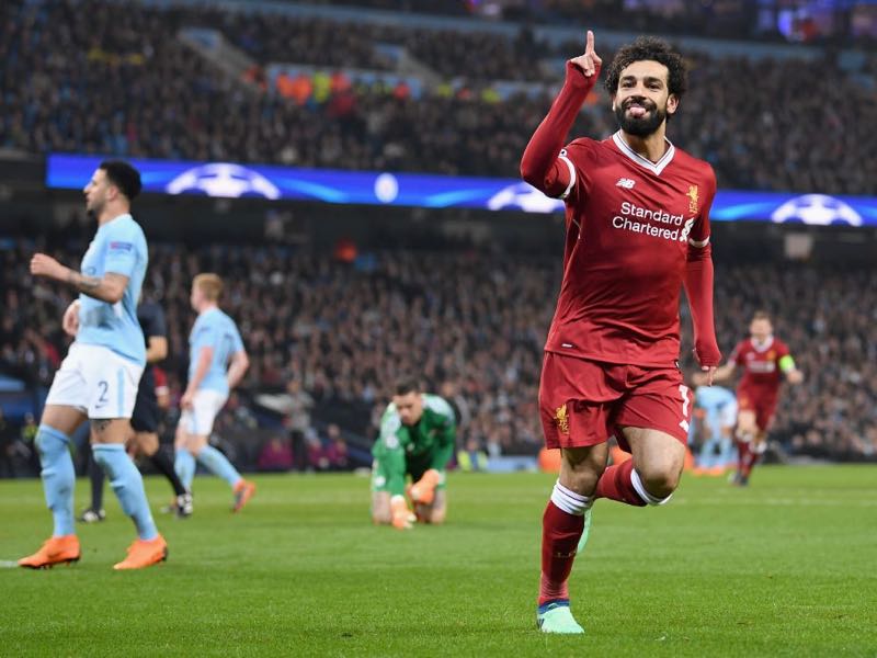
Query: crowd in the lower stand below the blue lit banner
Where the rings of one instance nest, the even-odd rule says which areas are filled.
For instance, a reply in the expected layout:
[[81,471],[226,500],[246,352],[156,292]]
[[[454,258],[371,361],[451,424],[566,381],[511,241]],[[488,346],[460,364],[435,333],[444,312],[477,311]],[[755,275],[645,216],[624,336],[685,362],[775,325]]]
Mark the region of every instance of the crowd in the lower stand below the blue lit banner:
[[[34,248],[21,240],[1,252],[10,313],[0,330],[0,366],[45,385],[66,351],[59,322],[69,295],[32,283],[26,263]],[[82,245],[53,251],[72,263]],[[400,250],[349,263],[278,247],[186,251],[153,243],[147,288],[167,311],[166,366],[176,392],[194,320],[189,288],[200,271],[220,272],[228,283],[224,306],[238,319],[252,359],[244,382],[250,398],[294,381],[312,398],[315,415],[329,409],[329,421],[344,419],[346,430],[372,434],[394,382],[417,373],[457,408],[462,445],[493,454],[540,445],[536,400],[560,276],[557,254]],[[716,281],[726,355],[744,337],[752,311],[766,308],[807,377],[787,388],[773,436],[791,453],[875,456],[877,274],[719,264]],[[683,318],[683,355],[691,352],[687,325]]]

